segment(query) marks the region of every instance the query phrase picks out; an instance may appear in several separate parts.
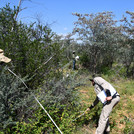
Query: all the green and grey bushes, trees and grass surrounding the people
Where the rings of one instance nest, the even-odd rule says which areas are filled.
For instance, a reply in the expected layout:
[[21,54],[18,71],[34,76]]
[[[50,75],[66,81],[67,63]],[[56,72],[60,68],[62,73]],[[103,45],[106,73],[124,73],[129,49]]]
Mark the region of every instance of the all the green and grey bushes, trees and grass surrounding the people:
[[[17,14],[18,8],[10,5],[0,9],[0,48],[12,59],[0,65],[0,133],[59,133],[34,96],[63,133],[93,133],[101,104],[74,119],[95,98],[89,82],[94,73],[121,95],[110,116],[112,133],[134,133],[134,13],[127,11],[129,18],[118,21],[112,12],[75,13],[78,20],[66,37],[39,20],[23,24]],[[74,34],[81,43],[73,39]],[[72,70],[73,50],[80,56],[76,70]]]

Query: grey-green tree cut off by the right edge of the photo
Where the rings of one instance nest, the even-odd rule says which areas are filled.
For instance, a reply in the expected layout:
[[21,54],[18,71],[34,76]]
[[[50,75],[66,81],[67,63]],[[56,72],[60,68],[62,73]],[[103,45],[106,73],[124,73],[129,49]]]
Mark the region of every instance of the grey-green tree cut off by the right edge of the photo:
[[134,77],[134,13],[126,11],[130,18],[123,17],[123,36],[121,61],[126,67],[127,76]]

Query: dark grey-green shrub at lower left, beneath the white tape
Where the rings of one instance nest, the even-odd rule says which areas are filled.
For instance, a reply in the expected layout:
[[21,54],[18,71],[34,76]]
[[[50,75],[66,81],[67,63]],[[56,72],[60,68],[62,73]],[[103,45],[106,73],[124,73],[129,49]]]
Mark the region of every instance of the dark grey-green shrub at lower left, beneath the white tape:
[[[26,114],[29,93],[21,81],[5,69],[0,73],[0,130],[8,132],[21,114]],[[25,81],[26,78],[23,79]]]

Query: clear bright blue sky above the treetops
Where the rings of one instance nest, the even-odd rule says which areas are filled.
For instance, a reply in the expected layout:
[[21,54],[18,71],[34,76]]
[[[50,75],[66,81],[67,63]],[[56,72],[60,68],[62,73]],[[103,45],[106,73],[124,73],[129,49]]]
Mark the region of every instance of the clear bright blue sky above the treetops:
[[[10,7],[18,6],[20,0],[0,0],[0,8],[10,3]],[[77,17],[72,13],[95,14],[112,11],[119,20],[126,11],[134,12],[134,0],[22,0],[22,10],[18,20],[26,24],[35,22],[37,18],[42,24],[49,24],[53,32],[66,35],[71,33]]]

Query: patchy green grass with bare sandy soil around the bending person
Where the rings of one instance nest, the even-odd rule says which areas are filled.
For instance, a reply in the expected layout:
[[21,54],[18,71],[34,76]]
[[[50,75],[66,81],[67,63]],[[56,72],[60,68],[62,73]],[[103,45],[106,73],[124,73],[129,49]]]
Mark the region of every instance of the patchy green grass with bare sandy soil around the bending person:
[[[85,73],[78,77],[78,79],[85,80],[84,85],[78,87],[80,101],[84,111],[94,101],[96,95],[94,87],[91,86],[91,83],[88,80],[89,75]],[[109,81],[121,96],[119,104],[113,109],[110,115],[111,134],[134,134],[134,81],[116,76],[103,75],[102,77]],[[83,122],[83,124],[77,128],[74,132],[75,134],[95,133],[97,122],[94,122],[93,120],[90,122],[88,119],[94,118],[97,107],[101,107],[101,104],[96,106],[96,108],[91,111],[92,113],[81,118],[80,121]],[[86,123],[83,120],[87,120]]]

